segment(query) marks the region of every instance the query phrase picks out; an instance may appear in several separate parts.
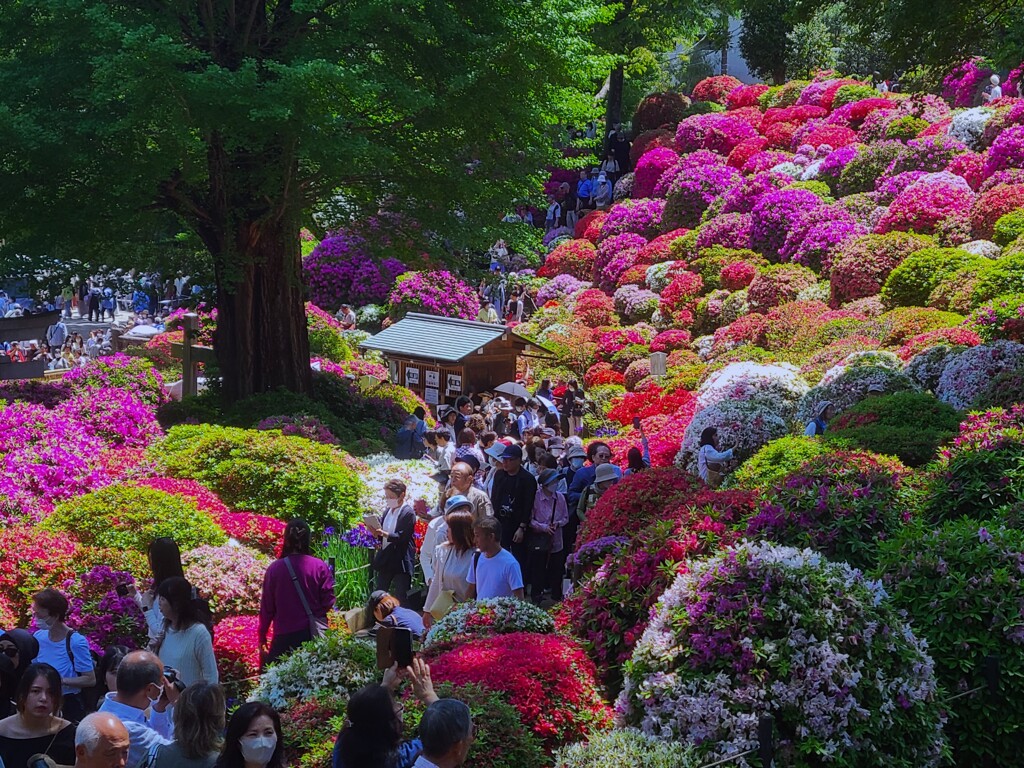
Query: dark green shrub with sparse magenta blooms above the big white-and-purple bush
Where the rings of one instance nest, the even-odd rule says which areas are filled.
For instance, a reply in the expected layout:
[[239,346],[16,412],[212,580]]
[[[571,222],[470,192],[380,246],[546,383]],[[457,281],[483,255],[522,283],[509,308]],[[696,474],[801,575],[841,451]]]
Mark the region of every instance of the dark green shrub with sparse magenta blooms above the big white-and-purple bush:
[[746,537],[872,566],[879,541],[907,522],[899,496],[905,472],[874,454],[836,451],[810,459],[765,492]]

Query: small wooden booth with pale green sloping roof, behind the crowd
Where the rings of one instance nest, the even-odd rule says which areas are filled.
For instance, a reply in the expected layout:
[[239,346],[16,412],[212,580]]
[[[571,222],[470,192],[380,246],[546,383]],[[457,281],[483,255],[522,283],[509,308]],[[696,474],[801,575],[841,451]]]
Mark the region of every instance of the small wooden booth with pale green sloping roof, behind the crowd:
[[430,406],[515,381],[520,356],[550,357],[505,326],[419,312],[410,312],[361,346],[383,353],[391,381]]

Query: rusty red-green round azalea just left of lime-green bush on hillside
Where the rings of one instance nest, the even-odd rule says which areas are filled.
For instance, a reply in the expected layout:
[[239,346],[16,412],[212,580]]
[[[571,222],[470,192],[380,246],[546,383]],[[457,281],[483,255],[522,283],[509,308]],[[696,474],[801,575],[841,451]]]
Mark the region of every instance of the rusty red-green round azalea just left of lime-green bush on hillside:
[[848,240],[833,260],[833,306],[874,296],[903,259],[930,245],[931,240],[909,232],[863,234]]

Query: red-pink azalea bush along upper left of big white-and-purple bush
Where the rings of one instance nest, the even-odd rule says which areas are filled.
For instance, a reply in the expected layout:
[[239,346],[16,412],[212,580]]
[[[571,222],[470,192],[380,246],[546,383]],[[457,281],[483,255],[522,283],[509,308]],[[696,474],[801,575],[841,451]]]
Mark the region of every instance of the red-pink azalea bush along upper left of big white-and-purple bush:
[[707,557],[738,535],[705,509],[683,508],[645,527],[605,558],[560,606],[556,626],[580,639],[609,693],[622,686],[622,666],[650,621],[651,608],[693,558]]

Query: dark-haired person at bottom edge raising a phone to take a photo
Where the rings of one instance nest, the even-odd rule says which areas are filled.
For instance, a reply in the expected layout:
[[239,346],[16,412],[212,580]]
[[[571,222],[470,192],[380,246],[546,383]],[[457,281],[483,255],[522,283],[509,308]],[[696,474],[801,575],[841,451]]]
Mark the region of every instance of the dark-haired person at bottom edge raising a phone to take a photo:
[[422,658],[401,672],[397,665],[385,670],[380,685],[368,685],[348,699],[345,727],[334,742],[333,768],[411,768],[416,762],[423,743],[401,740],[402,707],[394,698],[402,678],[425,707],[437,700],[430,668]]

